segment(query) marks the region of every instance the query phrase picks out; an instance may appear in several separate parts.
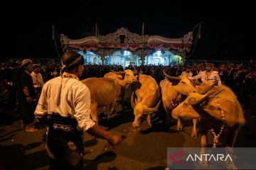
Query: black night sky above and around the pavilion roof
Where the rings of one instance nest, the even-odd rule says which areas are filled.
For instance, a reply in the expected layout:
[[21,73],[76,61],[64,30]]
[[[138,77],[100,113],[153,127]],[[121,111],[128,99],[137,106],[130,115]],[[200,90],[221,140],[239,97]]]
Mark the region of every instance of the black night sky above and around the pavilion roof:
[[[202,38],[190,59],[250,60],[255,58],[255,8],[252,2],[181,1],[69,1],[18,2],[4,18],[4,53],[1,58],[58,58],[52,26],[60,34],[79,39],[95,31],[181,38],[203,22]],[[12,16],[11,16],[12,14]],[[61,53],[61,51],[59,50]]]

